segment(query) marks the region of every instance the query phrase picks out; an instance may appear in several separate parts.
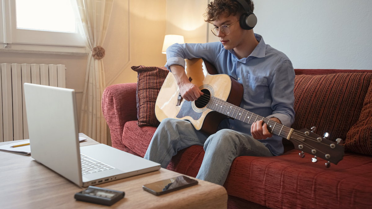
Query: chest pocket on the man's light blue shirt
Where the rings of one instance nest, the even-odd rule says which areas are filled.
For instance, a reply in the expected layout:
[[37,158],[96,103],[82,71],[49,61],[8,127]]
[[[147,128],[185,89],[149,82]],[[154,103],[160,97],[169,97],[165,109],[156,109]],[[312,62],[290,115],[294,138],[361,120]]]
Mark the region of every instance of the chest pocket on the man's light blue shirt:
[[267,78],[246,74],[244,85],[244,99],[257,102],[265,98],[269,93]]

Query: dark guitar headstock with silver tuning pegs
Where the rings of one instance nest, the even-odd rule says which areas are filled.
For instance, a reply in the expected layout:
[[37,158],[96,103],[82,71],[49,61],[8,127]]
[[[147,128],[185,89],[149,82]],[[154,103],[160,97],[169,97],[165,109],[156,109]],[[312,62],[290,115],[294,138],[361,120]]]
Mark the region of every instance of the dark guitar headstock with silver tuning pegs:
[[[314,127],[315,128],[315,127]],[[294,130],[289,141],[295,145],[295,149],[314,155],[312,162],[317,161],[317,157],[327,160],[330,163],[339,163],[344,156],[344,147],[337,142],[321,137],[308,129]],[[303,153],[299,154],[304,157]],[[325,166],[329,167],[329,163]]]

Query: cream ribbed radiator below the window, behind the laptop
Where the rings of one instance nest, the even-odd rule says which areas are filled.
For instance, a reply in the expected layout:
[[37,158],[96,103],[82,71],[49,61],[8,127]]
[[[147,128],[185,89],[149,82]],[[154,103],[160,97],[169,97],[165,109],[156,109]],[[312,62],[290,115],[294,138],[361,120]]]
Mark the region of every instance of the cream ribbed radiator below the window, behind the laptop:
[[28,139],[23,83],[65,88],[65,65],[0,64],[0,142]]

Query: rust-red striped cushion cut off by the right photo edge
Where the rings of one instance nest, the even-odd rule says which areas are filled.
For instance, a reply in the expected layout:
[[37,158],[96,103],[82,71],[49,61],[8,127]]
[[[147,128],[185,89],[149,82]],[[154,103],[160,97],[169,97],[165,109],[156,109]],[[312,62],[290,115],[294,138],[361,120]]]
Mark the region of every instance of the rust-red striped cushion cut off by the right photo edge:
[[369,85],[359,120],[347,132],[344,145],[349,151],[372,155],[372,84]]

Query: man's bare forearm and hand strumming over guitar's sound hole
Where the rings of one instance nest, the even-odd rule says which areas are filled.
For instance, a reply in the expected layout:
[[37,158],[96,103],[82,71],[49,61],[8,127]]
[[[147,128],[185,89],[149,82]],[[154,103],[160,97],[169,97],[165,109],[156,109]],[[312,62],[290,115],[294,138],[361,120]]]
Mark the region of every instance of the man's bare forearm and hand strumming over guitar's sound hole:
[[180,89],[180,94],[186,101],[197,100],[203,92],[198,86],[192,84],[187,78],[185,68],[181,65],[171,65],[170,70],[172,71],[174,78],[176,78],[177,85]]

